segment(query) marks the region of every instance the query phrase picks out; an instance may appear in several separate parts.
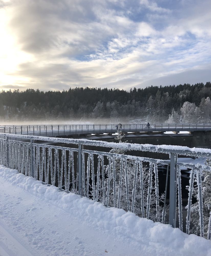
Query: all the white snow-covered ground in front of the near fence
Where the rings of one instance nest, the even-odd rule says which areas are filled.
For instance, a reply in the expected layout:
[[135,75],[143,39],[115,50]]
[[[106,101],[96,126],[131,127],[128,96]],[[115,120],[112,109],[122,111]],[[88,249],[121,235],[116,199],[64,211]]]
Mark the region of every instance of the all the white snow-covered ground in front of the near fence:
[[0,166],[0,255],[211,255],[211,241]]

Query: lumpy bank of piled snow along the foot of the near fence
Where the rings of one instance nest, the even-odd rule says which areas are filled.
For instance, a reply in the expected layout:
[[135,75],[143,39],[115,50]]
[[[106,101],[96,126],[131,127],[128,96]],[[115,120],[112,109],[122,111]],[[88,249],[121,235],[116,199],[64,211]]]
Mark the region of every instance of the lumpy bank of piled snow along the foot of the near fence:
[[[0,166],[0,177],[36,197],[47,200],[68,213],[86,221],[94,229],[102,230],[125,242],[137,242],[137,255],[211,255],[211,241],[187,235],[170,225],[154,223],[122,209],[106,208],[99,202],[60,191],[44,185],[17,170]],[[129,240],[128,240],[129,239]]]

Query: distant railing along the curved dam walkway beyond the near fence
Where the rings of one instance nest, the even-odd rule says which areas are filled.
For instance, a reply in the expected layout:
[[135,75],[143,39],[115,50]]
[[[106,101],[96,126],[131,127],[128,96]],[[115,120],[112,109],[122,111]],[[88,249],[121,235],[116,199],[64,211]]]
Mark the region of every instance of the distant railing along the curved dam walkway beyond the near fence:
[[[150,124],[151,128],[145,128],[146,124],[123,124],[123,132],[141,131],[198,131],[211,130],[211,124]],[[59,136],[78,133],[106,133],[116,132],[115,124],[78,124],[78,125],[8,125],[0,126],[0,132],[12,134],[33,134]]]

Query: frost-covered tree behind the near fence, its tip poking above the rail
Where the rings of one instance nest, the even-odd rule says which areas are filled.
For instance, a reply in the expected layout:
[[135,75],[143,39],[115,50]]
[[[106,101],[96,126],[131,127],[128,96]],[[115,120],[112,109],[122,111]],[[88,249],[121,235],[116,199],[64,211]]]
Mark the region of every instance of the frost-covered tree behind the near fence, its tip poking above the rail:
[[[124,135],[121,135],[121,131],[117,131],[118,136],[117,140],[119,143],[122,142],[122,138]],[[112,149],[110,153],[116,153],[116,154],[125,154],[126,151],[123,149]],[[116,198],[119,192],[119,182],[120,182],[120,175],[121,175],[121,193],[120,193],[120,208],[124,210],[128,210],[128,204],[127,204],[127,189],[126,189],[126,168],[123,165],[123,173],[120,174],[120,166],[121,166],[121,159],[116,157],[115,163],[115,192],[116,192]],[[131,204],[132,204],[132,195],[133,195],[133,188],[134,188],[134,178],[135,178],[135,166],[136,162],[134,160],[127,159],[127,179],[128,179],[128,196],[129,196],[129,210],[131,210]],[[105,173],[107,176],[109,176],[109,165],[104,166]],[[140,186],[140,173],[138,172],[137,178],[136,178],[136,197],[134,202],[134,213],[138,216],[142,216],[141,211],[141,186]],[[148,195],[148,188],[149,188],[149,168],[147,166],[143,166],[142,169],[142,179],[143,179],[143,206],[144,209],[147,208],[147,195]],[[101,183],[101,182],[100,182]],[[102,184],[102,183],[101,183]],[[108,206],[113,207],[114,206],[114,176],[113,176],[113,165],[111,165],[110,170],[110,177],[109,179],[105,179],[105,187],[109,189],[108,195],[109,195],[109,204]],[[150,214],[149,218],[153,221],[157,221],[157,215],[156,215],[156,186],[155,186],[155,180],[152,178],[152,184],[151,184],[151,200],[150,200]],[[162,194],[159,197],[159,201],[163,201],[164,195]],[[102,200],[102,199],[101,199]],[[162,216],[162,210],[163,208],[159,208],[159,216],[161,219]],[[145,216],[146,217],[146,216]]]

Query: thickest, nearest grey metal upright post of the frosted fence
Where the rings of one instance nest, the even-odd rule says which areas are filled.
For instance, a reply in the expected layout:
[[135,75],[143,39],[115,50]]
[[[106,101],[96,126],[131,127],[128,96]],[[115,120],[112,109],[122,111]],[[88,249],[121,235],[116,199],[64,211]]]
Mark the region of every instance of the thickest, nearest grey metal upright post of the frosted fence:
[[176,227],[176,162],[177,154],[170,156],[170,198],[169,198],[169,224]]

